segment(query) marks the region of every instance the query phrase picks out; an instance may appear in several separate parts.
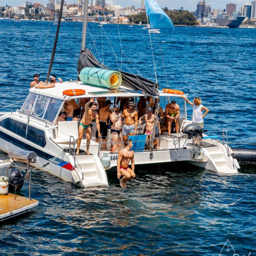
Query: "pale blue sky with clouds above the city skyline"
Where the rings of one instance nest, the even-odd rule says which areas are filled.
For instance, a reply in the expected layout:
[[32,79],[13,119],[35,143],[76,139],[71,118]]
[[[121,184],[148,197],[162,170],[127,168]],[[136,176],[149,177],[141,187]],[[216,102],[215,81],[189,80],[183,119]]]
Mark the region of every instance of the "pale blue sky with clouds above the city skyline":
[[[46,4],[48,0],[30,0],[33,2],[39,2],[40,4]],[[74,3],[76,0],[67,0],[67,3]],[[90,1],[90,0],[89,0]],[[0,0],[0,5],[8,4],[10,6],[21,6],[23,0]],[[128,5],[134,5],[136,8],[141,6],[141,0],[106,0],[108,4],[120,4],[125,7]],[[194,11],[197,7],[199,0],[156,0],[161,7],[168,7],[169,9],[179,9],[181,6],[189,11]],[[251,2],[250,0],[234,0],[234,1],[223,1],[223,0],[206,0],[206,4],[209,4],[212,9],[226,8],[226,4],[234,3],[237,5],[237,10],[243,5],[243,3]]]

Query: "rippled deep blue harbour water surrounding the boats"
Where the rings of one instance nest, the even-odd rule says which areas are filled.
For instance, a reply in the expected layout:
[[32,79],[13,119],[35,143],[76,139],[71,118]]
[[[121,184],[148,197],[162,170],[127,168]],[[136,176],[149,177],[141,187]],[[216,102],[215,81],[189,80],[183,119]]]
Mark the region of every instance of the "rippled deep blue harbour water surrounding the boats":
[[[225,128],[232,146],[256,148],[256,29],[176,27],[151,34],[151,48],[141,26],[97,25],[89,24],[87,47],[102,63],[155,80],[153,51],[160,88],[182,90],[189,100],[200,96],[210,109],[208,134],[222,139]],[[0,111],[20,108],[34,73],[45,80],[56,27],[0,20]],[[52,73],[65,81],[77,78],[81,32],[81,23],[61,23]],[[83,189],[34,171],[39,206],[0,224],[0,255],[256,253],[255,167],[232,176],[186,164],[135,173],[127,189],[115,171],[109,187]],[[28,186],[21,194],[28,195]]]

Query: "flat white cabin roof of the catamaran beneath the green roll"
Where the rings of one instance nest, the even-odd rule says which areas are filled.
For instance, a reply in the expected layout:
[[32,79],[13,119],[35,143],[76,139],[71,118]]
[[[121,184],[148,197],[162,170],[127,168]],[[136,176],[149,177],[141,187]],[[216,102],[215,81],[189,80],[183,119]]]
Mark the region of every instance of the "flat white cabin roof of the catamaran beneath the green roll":
[[[83,89],[84,95],[80,96],[67,96],[63,95],[63,91],[70,89]],[[127,87],[121,86],[117,90],[109,90],[106,88],[96,87],[92,85],[85,85],[82,82],[63,82],[56,83],[55,87],[38,89],[35,87],[30,88],[30,93],[36,93],[39,95],[45,95],[61,100],[70,98],[88,98],[88,97],[139,97],[145,96],[145,94],[131,90]]]

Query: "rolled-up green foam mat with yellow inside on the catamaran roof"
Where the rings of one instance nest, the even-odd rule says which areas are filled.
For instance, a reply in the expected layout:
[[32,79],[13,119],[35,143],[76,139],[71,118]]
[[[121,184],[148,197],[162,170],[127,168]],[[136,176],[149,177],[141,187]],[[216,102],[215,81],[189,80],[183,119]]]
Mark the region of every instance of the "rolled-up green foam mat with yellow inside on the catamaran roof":
[[118,89],[122,83],[122,75],[118,71],[98,68],[83,68],[79,75],[85,84],[108,89]]

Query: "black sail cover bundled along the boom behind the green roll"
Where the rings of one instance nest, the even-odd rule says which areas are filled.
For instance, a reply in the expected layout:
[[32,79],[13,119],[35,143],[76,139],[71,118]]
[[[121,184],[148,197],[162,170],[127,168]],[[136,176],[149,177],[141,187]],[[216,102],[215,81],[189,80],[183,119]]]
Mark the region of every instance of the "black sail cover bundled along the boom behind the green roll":
[[[77,70],[80,73],[85,67],[96,67],[100,69],[109,69],[109,67],[102,65],[98,59],[92,54],[89,49],[81,52],[78,59]],[[113,70],[113,69],[111,69]],[[117,70],[119,71],[119,70]],[[149,95],[156,95],[156,83],[144,78],[142,76],[136,76],[128,72],[120,71],[122,74],[122,85],[141,93],[147,93]]]

